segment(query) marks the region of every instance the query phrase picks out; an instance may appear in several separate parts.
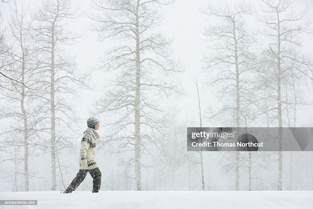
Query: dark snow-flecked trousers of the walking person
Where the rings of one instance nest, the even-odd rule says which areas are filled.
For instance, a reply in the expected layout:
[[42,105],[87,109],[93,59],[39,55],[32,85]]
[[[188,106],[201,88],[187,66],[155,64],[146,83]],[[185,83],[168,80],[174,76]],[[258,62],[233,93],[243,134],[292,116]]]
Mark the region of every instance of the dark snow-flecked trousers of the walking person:
[[77,189],[77,187],[83,182],[85,179],[87,173],[90,173],[91,177],[93,178],[93,191],[99,191],[101,186],[101,171],[99,168],[94,168],[91,170],[87,169],[80,169],[76,175],[76,177],[72,180],[72,182],[69,184],[69,188],[72,188],[74,191]]

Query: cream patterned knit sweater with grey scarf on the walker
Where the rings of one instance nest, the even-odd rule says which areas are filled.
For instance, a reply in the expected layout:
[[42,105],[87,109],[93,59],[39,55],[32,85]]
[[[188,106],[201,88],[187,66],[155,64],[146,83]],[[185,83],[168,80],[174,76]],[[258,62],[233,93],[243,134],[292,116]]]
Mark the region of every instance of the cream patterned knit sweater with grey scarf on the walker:
[[87,128],[84,131],[80,147],[80,169],[94,169],[98,165],[95,162],[96,142],[99,139],[99,134],[93,128]]

